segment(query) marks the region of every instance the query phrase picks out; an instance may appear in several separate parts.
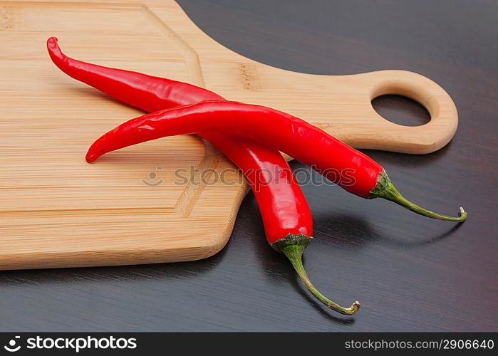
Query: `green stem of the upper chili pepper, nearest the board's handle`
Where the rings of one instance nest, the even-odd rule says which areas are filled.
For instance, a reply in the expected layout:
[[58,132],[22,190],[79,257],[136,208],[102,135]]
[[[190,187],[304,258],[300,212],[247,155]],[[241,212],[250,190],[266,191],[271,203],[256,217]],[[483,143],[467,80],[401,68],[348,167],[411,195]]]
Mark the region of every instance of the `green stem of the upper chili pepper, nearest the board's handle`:
[[465,221],[465,219],[467,219],[467,213],[462,208],[462,206],[460,206],[460,216],[447,216],[435,213],[434,211],[424,209],[421,206],[418,206],[417,204],[413,204],[411,201],[403,197],[403,195],[401,195],[400,192],[398,192],[398,189],[396,189],[396,187],[390,181],[388,174],[386,174],[385,171],[379,174],[378,182],[370,192],[370,196],[368,197],[368,199],[373,199],[377,197],[394,201],[396,204],[403,206],[408,210],[414,211],[417,214],[427,216],[432,219],[456,221],[456,222],[463,222]]

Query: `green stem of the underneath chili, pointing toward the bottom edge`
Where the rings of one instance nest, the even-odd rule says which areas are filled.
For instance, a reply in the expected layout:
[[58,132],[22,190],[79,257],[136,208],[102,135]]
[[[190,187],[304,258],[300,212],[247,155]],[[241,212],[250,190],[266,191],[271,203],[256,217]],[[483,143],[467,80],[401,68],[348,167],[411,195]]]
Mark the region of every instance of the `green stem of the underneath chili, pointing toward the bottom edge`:
[[284,255],[289,258],[289,261],[291,261],[292,266],[294,266],[294,269],[296,270],[299,278],[301,278],[301,281],[304,283],[304,286],[306,286],[309,292],[313,294],[316,299],[320,300],[321,303],[327,305],[328,308],[331,308],[338,313],[344,315],[353,315],[358,311],[358,309],[360,309],[360,303],[358,301],[353,303],[351,307],[344,308],[343,306],[334,303],[332,300],[328,299],[325,295],[320,293],[320,291],[316,289],[315,286],[313,286],[313,283],[311,283],[311,281],[309,280],[308,275],[304,270],[302,261],[304,248],[308,246],[309,241],[311,241],[311,238],[307,236],[303,237],[300,235],[289,235],[286,236],[286,238],[276,241],[276,243],[274,244],[271,244],[271,247],[273,247],[276,251],[284,253]]

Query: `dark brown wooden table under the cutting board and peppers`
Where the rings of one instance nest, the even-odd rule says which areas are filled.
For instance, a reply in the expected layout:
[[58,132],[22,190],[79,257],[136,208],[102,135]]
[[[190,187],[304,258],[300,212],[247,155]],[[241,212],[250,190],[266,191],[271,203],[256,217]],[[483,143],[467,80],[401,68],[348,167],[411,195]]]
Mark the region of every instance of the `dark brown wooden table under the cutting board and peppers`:
[[[266,245],[252,194],[217,256],[190,263],[0,273],[0,330],[498,330],[498,3],[496,1],[200,1],[180,4],[210,36],[271,66],[306,73],[422,73],[460,113],[431,155],[368,152],[432,221],[388,201],[306,184],[315,237],[305,264],[353,318],[316,303]],[[375,108],[404,125],[428,114],[403,98]],[[294,162],[294,168],[312,172]]]

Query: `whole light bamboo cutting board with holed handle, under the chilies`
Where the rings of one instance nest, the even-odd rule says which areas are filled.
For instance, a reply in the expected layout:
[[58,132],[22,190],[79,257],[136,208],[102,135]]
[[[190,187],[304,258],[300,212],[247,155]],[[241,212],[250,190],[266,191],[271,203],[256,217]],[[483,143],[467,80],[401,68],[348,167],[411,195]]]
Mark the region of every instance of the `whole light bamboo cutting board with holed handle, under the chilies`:
[[[234,167],[195,136],[86,164],[96,137],[141,112],[61,73],[48,59],[48,36],[69,56],[284,110],[358,148],[433,152],[457,129],[451,98],[422,75],[272,68],[209,38],[172,0],[0,1],[1,269],[206,258],[227,243],[247,192],[235,172],[215,179]],[[388,93],[419,101],[432,120],[419,127],[384,120],[371,100]],[[194,179],[178,184],[178,169]]]

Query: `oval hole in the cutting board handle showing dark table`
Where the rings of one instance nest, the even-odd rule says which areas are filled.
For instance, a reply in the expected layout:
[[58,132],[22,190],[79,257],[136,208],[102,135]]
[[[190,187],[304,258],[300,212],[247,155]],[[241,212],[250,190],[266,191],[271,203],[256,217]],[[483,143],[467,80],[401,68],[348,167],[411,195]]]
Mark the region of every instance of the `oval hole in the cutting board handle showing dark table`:
[[385,120],[398,125],[420,126],[430,121],[423,105],[402,95],[380,95],[372,100],[372,106]]

